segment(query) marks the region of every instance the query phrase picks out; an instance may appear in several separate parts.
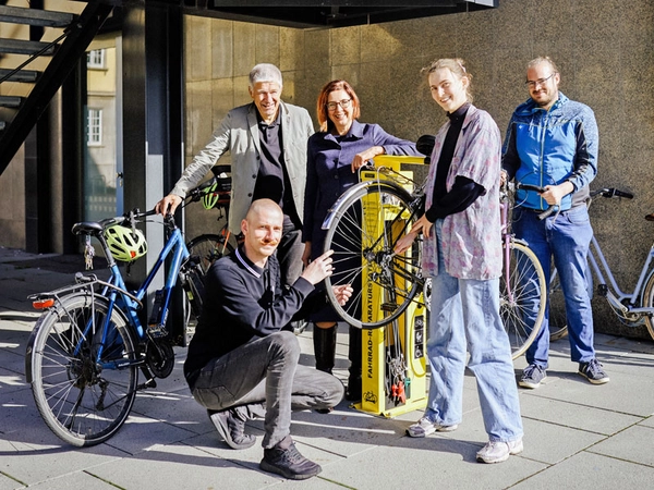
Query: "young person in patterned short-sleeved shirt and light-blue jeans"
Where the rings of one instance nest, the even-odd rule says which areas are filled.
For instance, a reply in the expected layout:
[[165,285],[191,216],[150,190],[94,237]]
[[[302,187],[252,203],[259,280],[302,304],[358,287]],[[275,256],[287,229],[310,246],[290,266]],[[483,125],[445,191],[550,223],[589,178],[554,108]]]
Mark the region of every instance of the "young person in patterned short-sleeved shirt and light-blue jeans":
[[491,114],[472,105],[463,60],[436,60],[424,71],[448,121],[434,140],[425,213],[396,245],[402,253],[422,233],[423,273],[432,278],[429,397],[407,433],[424,438],[457,429],[468,368],[488,434],[477,461],[500,463],[523,449],[511,347],[499,316],[501,140]]

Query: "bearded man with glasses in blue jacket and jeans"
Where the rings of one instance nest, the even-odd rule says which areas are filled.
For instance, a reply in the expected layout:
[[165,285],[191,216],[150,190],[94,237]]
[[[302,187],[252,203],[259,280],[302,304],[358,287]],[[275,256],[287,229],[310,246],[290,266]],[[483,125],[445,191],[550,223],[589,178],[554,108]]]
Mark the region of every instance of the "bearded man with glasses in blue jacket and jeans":
[[[502,179],[542,186],[542,194],[518,191],[512,230],[536,254],[549,283],[554,257],[566,299],[572,362],[593,384],[608,382],[593,347],[593,314],[586,290],[586,256],[593,229],[586,209],[589,184],[597,173],[598,135],[588,106],[559,93],[560,75],[549,58],[526,66],[531,98],[518,106],[502,146]],[[558,212],[538,213],[556,205]],[[526,351],[529,366],[519,384],[537,388],[546,378],[549,351],[548,308],[543,329]]]

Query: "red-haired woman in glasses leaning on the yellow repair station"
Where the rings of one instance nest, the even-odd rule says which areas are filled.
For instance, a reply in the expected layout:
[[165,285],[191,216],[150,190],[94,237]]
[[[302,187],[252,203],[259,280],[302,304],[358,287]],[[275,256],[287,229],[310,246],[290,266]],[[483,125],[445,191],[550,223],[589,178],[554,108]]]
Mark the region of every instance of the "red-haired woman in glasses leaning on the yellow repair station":
[[[320,132],[308,138],[304,195],[303,261],[323,254],[323,220],[336,199],[359,182],[358,170],[377,155],[420,155],[415,144],[396,138],[377,124],[360,123],[359,97],[352,86],[336,79],[323,87],[317,113]],[[312,317],[316,368],[331,372],[339,316],[331,307]],[[361,400],[361,330],[350,327],[350,376],[346,397]]]

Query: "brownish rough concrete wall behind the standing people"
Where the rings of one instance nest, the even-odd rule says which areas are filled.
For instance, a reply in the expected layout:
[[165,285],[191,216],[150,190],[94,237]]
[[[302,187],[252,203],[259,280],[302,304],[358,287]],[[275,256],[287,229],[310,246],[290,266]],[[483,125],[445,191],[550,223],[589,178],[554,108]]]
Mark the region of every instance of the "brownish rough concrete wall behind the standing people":
[[[347,78],[362,101],[363,122],[415,140],[445,121],[420,70],[461,57],[473,74],[475,103],[502,134],[524,101],[528,61],[549,56],[560,89],[591,106],[600,126],[600,172],[593,187],[633,192],[633,201],[597,200],[596,235],[623,290],[631,290],[652,242],[654,211],[654,4],[651,0],[500,0],[498,9],[338,29],[291,29],[186,19],[186,161],[232,107],[247,102],[246,75],[258,62],[284,74],[282,98],[306,107],[332,78]],[[317,126],[317,124],[316,124]],[[215,216],[190,209],[187,232],[216,230]],[[597,330],[619,330],[594,299]],[[642,334],[643,329],[627,334]]]

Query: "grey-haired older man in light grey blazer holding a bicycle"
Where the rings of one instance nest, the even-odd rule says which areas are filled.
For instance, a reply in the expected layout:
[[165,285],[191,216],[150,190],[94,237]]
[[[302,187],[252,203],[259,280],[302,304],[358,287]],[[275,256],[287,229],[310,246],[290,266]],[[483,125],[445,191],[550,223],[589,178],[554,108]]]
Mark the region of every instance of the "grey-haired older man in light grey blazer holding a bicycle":
[[228,112],[211,140],[186,167],[170,194],[157,203],[159,213],[174,212],[186,193],[204,179],[220,157],[231,152],[232,194],[229,230],[239,234],[253,200],[267,198],[283,210],[277,248],[281,283],[302,273],[302,212],[306,184],[306,142],[314,133],[306,109],[281,101],[281,72],[261,63],[250,72],[252,102]]

